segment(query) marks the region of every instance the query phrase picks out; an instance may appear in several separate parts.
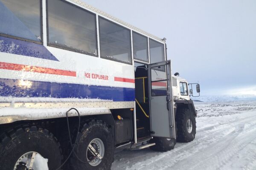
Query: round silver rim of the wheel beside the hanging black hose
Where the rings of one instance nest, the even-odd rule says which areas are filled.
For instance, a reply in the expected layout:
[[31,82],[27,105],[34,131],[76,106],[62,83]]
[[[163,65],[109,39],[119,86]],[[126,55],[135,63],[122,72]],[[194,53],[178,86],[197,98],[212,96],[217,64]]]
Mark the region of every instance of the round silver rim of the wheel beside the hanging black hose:
[[93,139],[87,147],[86,157],[91,166],[97,166],[101,163],[105,153],[104,143],[101,139]]

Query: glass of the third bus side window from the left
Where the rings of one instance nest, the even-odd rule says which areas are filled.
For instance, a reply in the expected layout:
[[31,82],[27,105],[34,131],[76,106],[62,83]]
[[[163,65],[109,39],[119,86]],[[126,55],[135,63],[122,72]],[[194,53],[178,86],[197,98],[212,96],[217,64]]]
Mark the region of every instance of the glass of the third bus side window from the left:
[[99,17],[100,55],[131,64],[131,32]]

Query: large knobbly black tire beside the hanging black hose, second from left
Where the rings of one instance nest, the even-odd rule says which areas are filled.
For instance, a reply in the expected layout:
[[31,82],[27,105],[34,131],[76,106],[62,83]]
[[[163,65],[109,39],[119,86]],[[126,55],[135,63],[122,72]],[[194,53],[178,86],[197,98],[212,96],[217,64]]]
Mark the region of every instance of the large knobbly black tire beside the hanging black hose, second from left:
[[[99,153],[103,144],[104,156],[101,155],[101,161],[88,150],[90,143]],[[73,170],[110,170],[114,158],[114,141],[106,123],[101,120],[85,123],[78,134],[74,152],[70,159]]]

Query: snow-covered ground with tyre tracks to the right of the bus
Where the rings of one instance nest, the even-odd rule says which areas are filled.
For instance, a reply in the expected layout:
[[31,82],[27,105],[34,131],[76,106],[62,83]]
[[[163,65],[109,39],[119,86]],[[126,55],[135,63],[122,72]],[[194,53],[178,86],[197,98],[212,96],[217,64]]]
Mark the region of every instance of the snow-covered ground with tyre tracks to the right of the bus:
[[194,141],[166,153],[123,150],[111,170],[256,170],[256,102],[195,106]]

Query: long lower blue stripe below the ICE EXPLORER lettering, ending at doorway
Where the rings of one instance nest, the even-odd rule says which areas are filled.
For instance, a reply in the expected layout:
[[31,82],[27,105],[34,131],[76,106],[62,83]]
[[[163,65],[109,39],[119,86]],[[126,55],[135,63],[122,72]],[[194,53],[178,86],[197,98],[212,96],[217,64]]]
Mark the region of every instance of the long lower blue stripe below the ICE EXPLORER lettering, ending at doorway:
[[134,88],[119,88],[71,83],[0,79],[0,96],[108,99],[135,101]]

